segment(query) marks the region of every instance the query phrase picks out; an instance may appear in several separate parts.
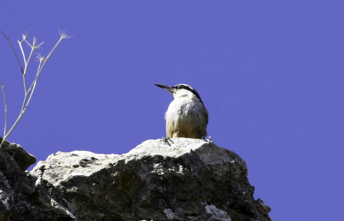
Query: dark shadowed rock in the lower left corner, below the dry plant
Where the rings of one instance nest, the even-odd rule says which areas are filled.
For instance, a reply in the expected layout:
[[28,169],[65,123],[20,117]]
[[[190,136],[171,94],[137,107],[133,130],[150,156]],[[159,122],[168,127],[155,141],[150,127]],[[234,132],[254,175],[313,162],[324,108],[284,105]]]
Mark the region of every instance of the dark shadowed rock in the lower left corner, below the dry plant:
[[45,186],[35,185],[37,177],[25,171],[35,161],[21,146],[4,142],[0,149],[0,221],[76,220],[54,204]]

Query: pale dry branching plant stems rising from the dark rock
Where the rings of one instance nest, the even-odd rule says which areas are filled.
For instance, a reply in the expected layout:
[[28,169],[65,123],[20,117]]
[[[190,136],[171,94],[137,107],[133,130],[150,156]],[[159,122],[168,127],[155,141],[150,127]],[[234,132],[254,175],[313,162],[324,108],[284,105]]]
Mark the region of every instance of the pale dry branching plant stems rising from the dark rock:
[[[32,57],[32,54],[34,52],[35,49],[37,48],[40,48],[40,46],[43,44],[39,44],[39,45],[36,45],[36,42],[37,42],[37,38],[33,38],[33,44],[31,45],[28,41],[26,41],[26,35],[23,35],[23,40],[22,41],[18,41],[19,43],[19,46],[20,46],[20,50],[22,52],[22,55],[23,55],[23,59],[24,59],[24,63],[25,63],[25,67],[24,67],[24,71],[23,71],[23,82],[24,82],[24,92],[25,92],[25,96],[24,96],[24,101],[23,101],[23,105],[22,105],[22,108],[20,110],[20,114],[17,118],[17,120],[14,122],[13,126],[11,127],[11,129],[7,131],[7,105],[6,105],[6,98],[5,98],[5,92],[4,92],[4,86],[2,86],[2,90],[3,90],[3,95],[4,95],[4,101],[5,101],[5,128],[4,128],[4,136],[3,136],[3,139],[2,139],[2,142],[0,144],[0,148],[2,147],[2,144],[4,143],[4,141],[6,140],[6,138],[11,134],[12,130],[15,128],[15,126],[17,126],[19,120],[21,119],[21,117],[23,116],[23,114],[25,113],[25,110],[26,108],[28,107],[30,101],[31,101],[31,98],[32,98],[32,95],[33,95],[33,92],[36,88],[36,84],[37,84],[37,79],[38,79],[38,76],[40,75],[40,73],[42,72],[42,69],[45,65],[45,63],[47,62],[47,60],[49,59],[49,57],[51,56],[51,54],[53,53],[53,51],[56,49],[57,45],[60,44],[60,42],[62,41],[62,39],[64,38],[69,38],[67,37],[67,34],[65,32],[61,32],[60,31],[60,39],[58,40],[58,42],[55,44],[54,48],[50,51],[50,53],[48,54],[48,56],[45,58],[44,56],[42,57],[41,55],[39,55],[38,59],[40,60],[40,64],[37,68],[37,73],[36,73],[36,77],[35,79],[33,80],[31,86],[29,87],[29,89],[27,88],[27,85],[26,85],[26,72],[28,70],[28,65],[29,65],[29,62],[31,60],[31,57]],[[26,57],[25,57],[25,53],[24,53],[24,50],[23,50],[23,47],[22,47],[22,42],[26,42],[28,43],[28,45],[31,47],[31,52],[30,52],[30,55],[28,57],[28,59],[26,60]]]

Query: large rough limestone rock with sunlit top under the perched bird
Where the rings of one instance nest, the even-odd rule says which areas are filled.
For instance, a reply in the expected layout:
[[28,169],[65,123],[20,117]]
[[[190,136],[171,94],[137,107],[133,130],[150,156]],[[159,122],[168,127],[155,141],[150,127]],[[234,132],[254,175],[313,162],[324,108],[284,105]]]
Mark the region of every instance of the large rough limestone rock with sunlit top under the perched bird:
[[16,172],[17,183],[0,180],[0,220],[270,220],[245,161],[199,139],[147,140],[122,155],[57,152]]

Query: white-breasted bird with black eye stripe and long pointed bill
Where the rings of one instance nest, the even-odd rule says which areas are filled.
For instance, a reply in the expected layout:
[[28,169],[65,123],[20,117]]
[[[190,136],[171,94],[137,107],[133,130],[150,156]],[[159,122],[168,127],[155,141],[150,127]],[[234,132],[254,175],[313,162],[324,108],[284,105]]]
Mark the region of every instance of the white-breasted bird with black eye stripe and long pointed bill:
[[[155,84],[172,93],[174,99],[166,113],[166,135],[164,143],[173,137],[186,137],[204,140],[207,135],[208,112],[200,95],[187,84],[177,84],[173,87]],[[211,137],[206,141],[210,143]]]

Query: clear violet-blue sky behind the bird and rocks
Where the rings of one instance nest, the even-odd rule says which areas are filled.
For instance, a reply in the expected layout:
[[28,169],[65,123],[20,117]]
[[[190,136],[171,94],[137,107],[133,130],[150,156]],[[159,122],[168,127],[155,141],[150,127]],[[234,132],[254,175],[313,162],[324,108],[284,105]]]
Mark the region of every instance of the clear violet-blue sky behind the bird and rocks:
[[[59,28],[74,36],[47,62],[8,137],[37,161],[57,151],[122,154],[164,136],[173,97],[154,83],[185,83],[209,112],[214,143],[246,161],[271,219],[343,219],[342,1],[2,1],[0,29],[19,55],[23,27],[45,42],[43,55]],[[24,89],[2,36],[0,56],[12,124]]]

